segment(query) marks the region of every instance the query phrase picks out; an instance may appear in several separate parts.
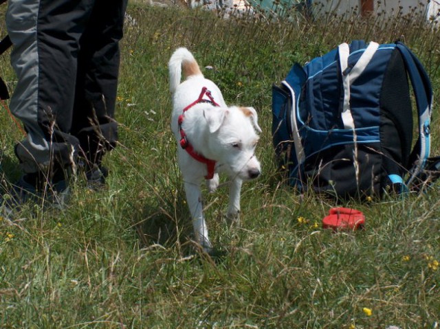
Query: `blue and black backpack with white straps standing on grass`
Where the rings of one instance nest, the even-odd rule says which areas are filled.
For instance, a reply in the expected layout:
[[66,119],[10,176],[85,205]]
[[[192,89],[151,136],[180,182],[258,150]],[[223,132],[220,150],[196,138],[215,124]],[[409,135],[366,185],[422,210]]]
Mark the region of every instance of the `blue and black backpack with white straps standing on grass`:
[[[418,137],[412,146],[415,95]],[[439,176],[430,155],[432,88],[403,43],[343,43],[272,89],[276,159],[290,185],[333,196],[419,190]]]

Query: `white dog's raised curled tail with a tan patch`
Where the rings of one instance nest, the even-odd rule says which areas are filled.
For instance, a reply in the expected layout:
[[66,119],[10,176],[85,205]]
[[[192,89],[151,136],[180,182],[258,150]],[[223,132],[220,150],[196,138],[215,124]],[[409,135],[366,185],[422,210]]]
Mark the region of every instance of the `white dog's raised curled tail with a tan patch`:
[[171,56],[170,61],[168,62],[168,69],[170,72],[171,93],[174,93],[181,82],[182,69],[185,78],[190,76],[203,76],[194,56],[192,56],[189,50],[184,47],[178,48]]

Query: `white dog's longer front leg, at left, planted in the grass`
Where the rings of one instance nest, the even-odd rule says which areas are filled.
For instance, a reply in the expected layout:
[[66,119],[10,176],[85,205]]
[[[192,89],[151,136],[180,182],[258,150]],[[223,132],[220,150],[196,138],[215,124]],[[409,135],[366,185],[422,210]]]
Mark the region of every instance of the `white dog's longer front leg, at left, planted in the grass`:
[[203,218],[200,184],[201,182],[185,182],[186,201],[190,208],[195,239],[203,247],[203,250],[209,252],[212,245],[208,238],[208,227],[205,218]]

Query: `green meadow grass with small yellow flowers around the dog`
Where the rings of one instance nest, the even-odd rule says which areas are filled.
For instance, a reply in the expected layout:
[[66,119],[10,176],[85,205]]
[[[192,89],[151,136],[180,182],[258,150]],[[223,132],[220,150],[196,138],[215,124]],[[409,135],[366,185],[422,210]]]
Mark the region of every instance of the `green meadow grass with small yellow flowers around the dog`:
[[[299,195],[275,174],[271,88],[295,61],[355,38],[402,38],[438,95],[440,32],[405,18],[223,20],[206,12],[131,3],[117,120],[120,145],[105,159],[109,190],[79,180],[67,209],[29,206],[0,220],[0,328],[437,328],[440,322],[439,190],[370,203],[348,201],[366,229],[333,234],[320,220],[336,203]],[[263,175],[245,183],[241,225],[223,217],[227,191],[206,195],[221,262],[197,252],[170,133],[167,62],[188,47],[225,100],[252,105],[263,128]],[[1,76],[12,90],[5,54]],[[17,179],[22,138],[1,111],[1,166]],[[433,155],[440,130],[434,106]],[[303,217],[305,220],[298,220]],[[363,309],[372,314],[366,315]],[[353,327],[354,326],[354,327]]]

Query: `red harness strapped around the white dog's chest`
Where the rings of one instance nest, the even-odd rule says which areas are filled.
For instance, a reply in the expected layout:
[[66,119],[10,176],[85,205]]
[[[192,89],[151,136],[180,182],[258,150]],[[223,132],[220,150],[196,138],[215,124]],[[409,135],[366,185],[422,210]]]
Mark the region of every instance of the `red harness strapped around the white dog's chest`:
[[[209,98],[209,100],[203,100],[203,97],[205,95]],[[201,155],[200,153],[197,153],[194,150],[194,148],[192,147],[192,145],[190,144],[190,142],[188,141],[188,139],[186,138],[186,133],[185,133],[184,129],[181,127],[181,124],[184,122],[185,112],[188,111],[192,106],[195,106],[195,104],[199,104],[199,103],[203,103],[203,102],[209,102],[214,106],[220,106],[219,104],[217,104],[214,101],[214,98],[212,98],[211,92],[208,90],[208,88],[203,87],[201,89],[201,93],[199,95],[199,98],[197,98],[197,100],[195,100],[194,102],[192,102],[191,104],[186,106],[183,113],[181,115],[179,115],[179,121],[177,123],[179,124],[179,131],[180,131],[180,136],[181,136],[181,139],[180,139],[181,148],[186,150],[186,152],[188,152],[188,154],[193,159],[196,159],[197,161],[199,161],[201,163],[205,163],[206,167],[208,169],[208,174],[205,176],[205,178],[212,179],[212,177],[214,177],[214,168],[215,168],[216,161],[206,159],[206,157],[203,157],[203,155]]]

